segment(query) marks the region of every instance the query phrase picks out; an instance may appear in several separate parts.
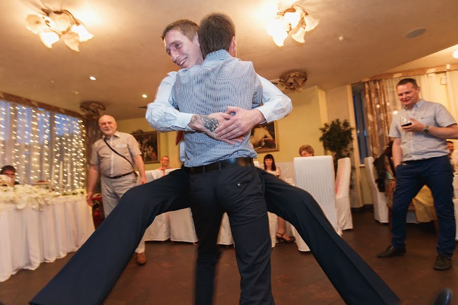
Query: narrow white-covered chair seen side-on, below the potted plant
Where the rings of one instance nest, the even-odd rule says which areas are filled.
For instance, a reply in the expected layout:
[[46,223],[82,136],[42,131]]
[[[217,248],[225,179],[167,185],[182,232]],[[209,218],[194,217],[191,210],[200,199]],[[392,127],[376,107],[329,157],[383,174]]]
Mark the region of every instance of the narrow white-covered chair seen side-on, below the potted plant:
[[350,208],[350,176],[352,162],[350,158],[337,160],[335,177],[335,207],[337,208],[337,223],[341,230],[353,229],[352,211]]

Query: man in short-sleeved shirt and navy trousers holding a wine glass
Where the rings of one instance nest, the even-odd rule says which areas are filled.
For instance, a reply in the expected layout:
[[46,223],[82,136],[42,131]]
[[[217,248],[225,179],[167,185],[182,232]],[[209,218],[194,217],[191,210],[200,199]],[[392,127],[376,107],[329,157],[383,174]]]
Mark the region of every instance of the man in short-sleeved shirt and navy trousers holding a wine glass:
[[391,121],[389,136],[394,138],[392,155],[396,170],[396,189],[391,209],[391,245],[380,258],[406,253],[406,217],[409,203],[427,185],[434,197],[439,237],[434,268],[451,268],[455,248],[453,212],[453,170],[448,160],[445,140],[458,136],[455,119],[439,103],[420,99],[420,87],[413,78],[396,85],[399,101],[404,106]]

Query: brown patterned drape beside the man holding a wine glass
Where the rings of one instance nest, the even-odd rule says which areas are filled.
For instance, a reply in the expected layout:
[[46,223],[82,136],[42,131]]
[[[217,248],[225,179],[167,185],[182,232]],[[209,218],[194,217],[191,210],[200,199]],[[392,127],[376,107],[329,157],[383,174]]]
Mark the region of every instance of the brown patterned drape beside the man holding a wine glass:
[[391,124],[390,104],[383,80],[364,82],[364,103],[367,113],[367,137],[369,153],[377,156],[388,144]]

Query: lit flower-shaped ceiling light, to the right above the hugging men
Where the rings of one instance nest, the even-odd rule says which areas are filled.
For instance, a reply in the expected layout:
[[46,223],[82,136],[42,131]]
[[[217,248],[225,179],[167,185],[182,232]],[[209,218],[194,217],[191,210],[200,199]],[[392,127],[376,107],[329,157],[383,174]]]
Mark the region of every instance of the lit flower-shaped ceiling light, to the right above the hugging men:
[[304,43],[305,32],[314,29],[319,22],[320,20],[311,17],[302,7],[293,4],[287,10],[278,11],[277,17],[269,21],[266,29],[275,44],[281,47],[289,33],[295,41]]

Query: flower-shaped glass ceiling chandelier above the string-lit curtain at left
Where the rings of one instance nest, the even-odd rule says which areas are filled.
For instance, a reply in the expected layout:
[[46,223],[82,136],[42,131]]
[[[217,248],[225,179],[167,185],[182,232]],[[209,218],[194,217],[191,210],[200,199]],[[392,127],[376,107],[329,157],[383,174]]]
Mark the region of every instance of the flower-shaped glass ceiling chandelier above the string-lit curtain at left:
[[69,11],[41,10],[46,16],[28,15],[25,24],[29,31],[40,36],[41,42],[48,48],[62,39],[70,49],[79,52],[79,43],[94,37]]

